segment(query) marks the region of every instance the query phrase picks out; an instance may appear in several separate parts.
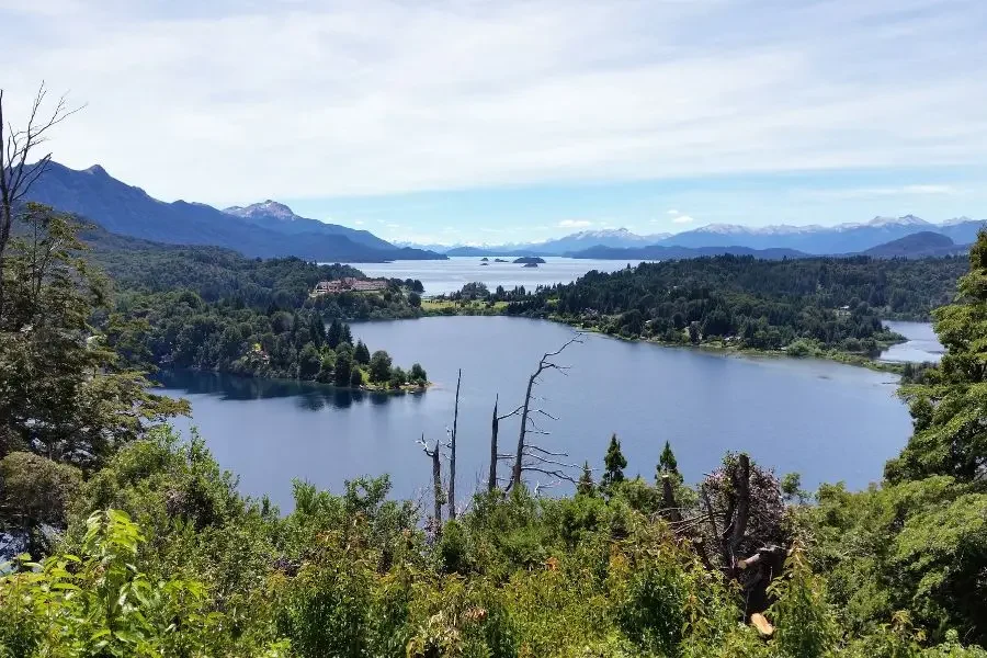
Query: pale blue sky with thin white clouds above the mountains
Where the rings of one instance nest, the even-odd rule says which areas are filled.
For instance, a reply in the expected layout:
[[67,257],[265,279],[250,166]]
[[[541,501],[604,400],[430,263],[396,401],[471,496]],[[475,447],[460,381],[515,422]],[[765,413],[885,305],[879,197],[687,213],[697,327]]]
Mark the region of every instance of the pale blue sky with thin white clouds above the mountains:
[[987,218],[983,0],[0,0],[8,115],[390,240]]

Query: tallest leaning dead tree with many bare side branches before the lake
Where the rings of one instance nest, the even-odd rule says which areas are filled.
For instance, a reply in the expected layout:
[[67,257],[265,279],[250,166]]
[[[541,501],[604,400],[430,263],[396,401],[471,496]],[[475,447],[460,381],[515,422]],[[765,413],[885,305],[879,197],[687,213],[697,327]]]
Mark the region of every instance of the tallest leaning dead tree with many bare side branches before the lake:
[[[506,418],[510,418],[512,416],[520,415],[521,416],[521,429],[518,434],[518,450],[513,455],[514,465],[511,469],[511,481],[508,485],[508,489],[513,486],[521,484],[521,475],[524,472],[534,472],[541,473],[543,475],[547,475],[549,477],[557,478],[559,480],[566,480],[570,483],[576,483],[576,478],[574,478],[568,470],[578,468],[576,464],[568,464],[559,461],[558,457],[568,457],[568,454],[564,452],[552,452],[549,450],[545,450],[538,445],[534,445],[527,441],[527,434],[540,434],[547,435],[548,432],[544,431],[538,426],[538,420],[541,418],[548,418],[549,420],[558,420],[554,416],[552,416],[548,411],[541,408],[532,408],[531,404],[534,400],[533,390],[535,385],[538,384],[538,378],[545,371],[556,370],[561,373],[565,373],[569,370],[568,366],[558,365],[553,361],[553,358],[558,356],[563,353],[563,351],[571,345],[572,343],[581,343],[582,337],[580,334],[574,336],[571,339],[566,341],[566,343],[554,352],[546,352],[542,355],[542,359],[538,360],[538,366],[527,378],[527,389],[524,393],[524,402],[522,402],[517,409],[511,411],[510,413],[506,413],[503,416],[498,417],[499,420],[503,420]],[[501,458],[507,455],[499,455]],[[510,458],[509,456],[507,456]]]

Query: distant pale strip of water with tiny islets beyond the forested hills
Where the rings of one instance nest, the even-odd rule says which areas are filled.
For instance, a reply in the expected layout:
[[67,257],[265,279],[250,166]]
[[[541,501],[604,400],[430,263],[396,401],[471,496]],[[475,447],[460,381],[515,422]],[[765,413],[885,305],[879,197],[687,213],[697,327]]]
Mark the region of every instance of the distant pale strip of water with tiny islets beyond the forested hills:
[[[427,295],[453,293],[474,281],[487,284],[490,290],[498,285],[511,290],[515,285],[534,288],[536,285],[569,283],[589,272],[614,272],[627,266],[623,261],[585,260],[576,258],[545,257],[545,263],[537,268],[514,264],[517,257],[502,257],[508,262],[495,263],[490,257],[488,265],[481,265],[479,257],[456,257],[446,261],[395,261],[392,263],[351,263],[367,276],[418,279],[424,285]],[[634,261],[637,264],[639,261]]]

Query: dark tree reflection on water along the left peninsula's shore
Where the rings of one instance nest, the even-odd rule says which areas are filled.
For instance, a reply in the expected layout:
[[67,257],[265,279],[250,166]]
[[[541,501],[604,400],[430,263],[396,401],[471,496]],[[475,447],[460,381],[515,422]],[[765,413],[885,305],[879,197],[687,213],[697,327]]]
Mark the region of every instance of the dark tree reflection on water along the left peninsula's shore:
[[[181,389],[189,395],[214,395],[224,400],[293,398],[295,405],[305,411],[319,411],[327,407],[349,409],[363,401],[383,406],[395,395],[406,395],[351,390],[317,382],[261,379],[188,370],[162,370],[154,378],[164,388]],[[421,396],[412,394],[411,397]]]

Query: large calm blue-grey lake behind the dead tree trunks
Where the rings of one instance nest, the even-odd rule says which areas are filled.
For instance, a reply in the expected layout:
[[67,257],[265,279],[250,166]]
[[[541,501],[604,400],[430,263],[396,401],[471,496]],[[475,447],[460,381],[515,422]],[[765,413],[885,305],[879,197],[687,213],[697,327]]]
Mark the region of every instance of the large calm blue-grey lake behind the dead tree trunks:
[[[452,424],[456,368],[460,405],[458,491],[484,479],[490,415],[521,401],[543,352],[571,331],[560,325],[508,317],[441,317],[370,322],[354,333],[384,348],[404,366],[420,361],[436,386],[422,395],[354,395],[319,385],[272,383],[213,374],[172,374],[167,393],[192,401],[194,420],[219,463],[240,475],[241,490],[269,492],[291,508],[291,479],[340,490],[347,478],[389,473],[394,491],[417,497],[430,463],[416,444]],[[715,467],[727,450],[746,450],[779,473],[797,470],[807,487],[846,480],[854,488],[880,479],[885,460],[910,433],[907,410],[894,397],[895,377],[830,362],[751,360],[589,336],[548,373],[542,405],[558,421],[542,441],[574,463],[602,465],[612,432],[627,474],[653,477],[666,440],[690,480]],[[501,445],[518,426],[501,423]],[[506,472],[506,467],[502,467]]]

